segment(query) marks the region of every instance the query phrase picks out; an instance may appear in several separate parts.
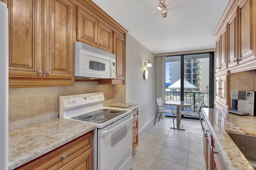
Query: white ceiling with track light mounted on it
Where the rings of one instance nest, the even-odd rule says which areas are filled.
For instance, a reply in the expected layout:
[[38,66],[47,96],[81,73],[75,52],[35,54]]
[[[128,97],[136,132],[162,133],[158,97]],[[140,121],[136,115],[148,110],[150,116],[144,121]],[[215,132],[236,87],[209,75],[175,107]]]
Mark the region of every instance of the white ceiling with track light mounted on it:
[[92,0],[154,54],[215,48],[212,36],[228,0]]

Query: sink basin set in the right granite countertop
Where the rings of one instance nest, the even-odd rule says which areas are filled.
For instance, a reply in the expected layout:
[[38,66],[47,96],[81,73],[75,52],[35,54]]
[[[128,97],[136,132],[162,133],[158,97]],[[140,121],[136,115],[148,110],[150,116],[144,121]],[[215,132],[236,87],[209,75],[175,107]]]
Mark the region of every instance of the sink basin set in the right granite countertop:
[[227,133],[256,170],[256,136]]

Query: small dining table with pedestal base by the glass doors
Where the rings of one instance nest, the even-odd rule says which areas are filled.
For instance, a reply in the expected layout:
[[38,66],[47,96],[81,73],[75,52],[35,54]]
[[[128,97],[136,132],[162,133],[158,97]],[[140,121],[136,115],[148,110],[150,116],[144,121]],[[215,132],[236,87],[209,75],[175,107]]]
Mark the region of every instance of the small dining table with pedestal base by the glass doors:
[[177,111],[176,112],[177,113],[176,127],[171,127],[171,128],[185,130],[186,125],[181,125],[180,124],[180,108],[181,107],[191,107],[192,102],[168,100],[164,103],[164,105],[166,105],[166,106],[176,106],[176,111]]

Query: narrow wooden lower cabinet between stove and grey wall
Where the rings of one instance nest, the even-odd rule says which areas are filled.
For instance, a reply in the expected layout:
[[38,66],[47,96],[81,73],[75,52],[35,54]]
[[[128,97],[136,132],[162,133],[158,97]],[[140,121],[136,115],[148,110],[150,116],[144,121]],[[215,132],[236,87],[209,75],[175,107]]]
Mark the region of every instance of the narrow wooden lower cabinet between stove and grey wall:
[[139,133],[138,133],[138,128],[139,128],[139,110],[135,109],[132,112],[133,119],[132,119],[132,151],[138,146],[138,141],[139,141]]

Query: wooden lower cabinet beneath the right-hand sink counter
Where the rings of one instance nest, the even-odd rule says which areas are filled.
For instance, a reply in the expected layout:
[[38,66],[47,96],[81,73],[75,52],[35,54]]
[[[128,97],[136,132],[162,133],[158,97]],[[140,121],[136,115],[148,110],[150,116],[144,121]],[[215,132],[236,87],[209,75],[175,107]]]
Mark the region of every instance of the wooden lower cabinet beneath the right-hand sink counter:
[[206,170],[226,170],[218,149],[214,144],[214,139],[206,122],[204,126],[204,161]]

